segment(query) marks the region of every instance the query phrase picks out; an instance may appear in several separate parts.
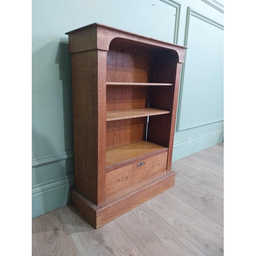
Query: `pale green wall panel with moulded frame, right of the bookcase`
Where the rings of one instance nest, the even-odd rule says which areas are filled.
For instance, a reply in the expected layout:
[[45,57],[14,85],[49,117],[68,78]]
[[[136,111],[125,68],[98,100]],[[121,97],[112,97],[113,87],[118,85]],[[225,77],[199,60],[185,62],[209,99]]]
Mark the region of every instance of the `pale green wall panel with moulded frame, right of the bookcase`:
[[223,27],[188,8],[177,131],[223,120]]

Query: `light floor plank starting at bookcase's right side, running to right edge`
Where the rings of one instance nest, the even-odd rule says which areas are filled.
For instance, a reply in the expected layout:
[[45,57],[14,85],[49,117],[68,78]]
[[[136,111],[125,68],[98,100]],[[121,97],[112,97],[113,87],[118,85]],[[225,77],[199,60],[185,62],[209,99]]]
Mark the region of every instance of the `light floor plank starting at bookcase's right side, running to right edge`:
[[223,182],[203,174],[194,168],[188,167],[179,161],[173,162],[172,170],[177,172],[176,176],[223,200]]

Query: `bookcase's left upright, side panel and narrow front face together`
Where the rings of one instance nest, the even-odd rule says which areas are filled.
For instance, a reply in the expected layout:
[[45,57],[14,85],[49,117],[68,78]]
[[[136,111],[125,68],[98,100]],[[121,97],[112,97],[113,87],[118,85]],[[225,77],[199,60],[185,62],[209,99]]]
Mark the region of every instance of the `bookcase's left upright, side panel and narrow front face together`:
[[99,204],[104,201],[106,52],[74,53],[71,60],[75,184]]

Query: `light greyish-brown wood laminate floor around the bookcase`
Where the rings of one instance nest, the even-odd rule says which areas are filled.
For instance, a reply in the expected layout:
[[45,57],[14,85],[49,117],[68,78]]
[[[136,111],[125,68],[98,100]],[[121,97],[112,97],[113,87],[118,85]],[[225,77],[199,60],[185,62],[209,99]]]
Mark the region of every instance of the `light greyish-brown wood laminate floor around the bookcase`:
[[97,230],[72,205],[32,219],[32,255],[223,255],[223,148],[173,162],[174,187]]

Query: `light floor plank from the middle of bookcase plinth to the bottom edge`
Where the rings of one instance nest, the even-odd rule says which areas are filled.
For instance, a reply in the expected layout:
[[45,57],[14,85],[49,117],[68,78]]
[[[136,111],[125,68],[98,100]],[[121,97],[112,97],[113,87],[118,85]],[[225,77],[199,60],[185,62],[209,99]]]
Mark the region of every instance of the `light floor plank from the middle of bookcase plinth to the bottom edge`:
[[146,256],[205,255],[144,204],[115,222]]

